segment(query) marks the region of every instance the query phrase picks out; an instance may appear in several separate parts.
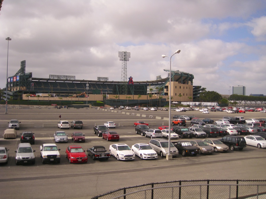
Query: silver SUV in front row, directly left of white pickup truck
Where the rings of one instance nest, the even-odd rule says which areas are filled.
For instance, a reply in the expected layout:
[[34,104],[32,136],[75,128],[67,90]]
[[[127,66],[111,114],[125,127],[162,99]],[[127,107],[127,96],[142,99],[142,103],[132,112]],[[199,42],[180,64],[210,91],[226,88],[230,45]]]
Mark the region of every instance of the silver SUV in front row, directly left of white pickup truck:
[[35,150],[32,149],[30,143],[20,143],[17,147],[16,152],[16,165],[23,163],[35,164]]

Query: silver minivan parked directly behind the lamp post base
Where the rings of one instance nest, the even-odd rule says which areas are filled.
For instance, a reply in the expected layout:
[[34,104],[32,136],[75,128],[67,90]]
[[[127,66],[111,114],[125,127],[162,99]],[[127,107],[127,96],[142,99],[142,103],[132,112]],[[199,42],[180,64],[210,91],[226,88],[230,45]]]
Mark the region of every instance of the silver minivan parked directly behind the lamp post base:
[[[160,154],[161,157],[165,157],[166,154],[168,154],[168,140],[166,139],[150,139],[149,145],[158,153]],[[178,155],[178,150],[176,147],[173,145],[172,142],[170,142],[170,154],[172,156],[177,156]]]

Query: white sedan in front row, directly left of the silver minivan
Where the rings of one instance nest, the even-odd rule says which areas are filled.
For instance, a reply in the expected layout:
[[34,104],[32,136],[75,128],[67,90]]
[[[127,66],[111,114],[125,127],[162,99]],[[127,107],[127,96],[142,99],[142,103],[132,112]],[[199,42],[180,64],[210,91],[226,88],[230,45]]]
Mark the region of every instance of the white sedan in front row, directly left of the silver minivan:
[[140,159],[156,159],[158,158],[157,152],[152,149],[149,144],[137,143],[132,145],[132,151],[140,157]]

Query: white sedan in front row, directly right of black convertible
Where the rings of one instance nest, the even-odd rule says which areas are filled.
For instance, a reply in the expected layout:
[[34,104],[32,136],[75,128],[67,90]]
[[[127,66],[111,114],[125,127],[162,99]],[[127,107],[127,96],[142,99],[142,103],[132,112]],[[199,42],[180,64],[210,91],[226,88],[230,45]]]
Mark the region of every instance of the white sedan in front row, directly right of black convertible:
[[135,153],[127,144],[112,144],[109,146],[109,153],[116,157],[117,160],[135,159]]

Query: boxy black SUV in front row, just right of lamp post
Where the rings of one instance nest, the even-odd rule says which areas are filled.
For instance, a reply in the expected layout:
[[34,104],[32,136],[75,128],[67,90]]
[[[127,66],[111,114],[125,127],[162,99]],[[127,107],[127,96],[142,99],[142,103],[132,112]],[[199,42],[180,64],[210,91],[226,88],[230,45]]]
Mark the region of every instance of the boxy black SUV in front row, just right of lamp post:
[[198,154],[198,148],[196,146],[193,146],[193,144],[189,141],[181,140],[174,143],[174,146],[177,148],[178,152],[182,154],[182,156],[196,156]]

